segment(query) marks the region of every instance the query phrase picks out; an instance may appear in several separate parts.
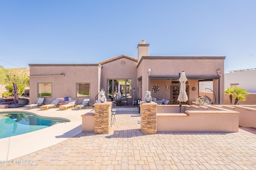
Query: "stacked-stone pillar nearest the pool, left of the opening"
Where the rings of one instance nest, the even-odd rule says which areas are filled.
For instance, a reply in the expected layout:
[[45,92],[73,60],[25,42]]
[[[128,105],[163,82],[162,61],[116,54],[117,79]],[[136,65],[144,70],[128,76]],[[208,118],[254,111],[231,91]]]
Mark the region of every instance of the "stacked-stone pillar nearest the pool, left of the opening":
[[94,133],[108,134],[110,131],[112,102],[96,103],[94,106]]

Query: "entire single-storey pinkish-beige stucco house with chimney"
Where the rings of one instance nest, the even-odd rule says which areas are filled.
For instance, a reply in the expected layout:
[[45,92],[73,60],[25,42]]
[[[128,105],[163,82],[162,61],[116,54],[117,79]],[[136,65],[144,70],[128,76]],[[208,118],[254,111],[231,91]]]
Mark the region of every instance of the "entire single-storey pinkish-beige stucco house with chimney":
[[[97,64],[29,64],[30,103],[45,97],[48,104],[56,98],[68,96],[82,103],[90,98],[90,105],[103,88],[106,98],[112,100],[118,92],[118,82],[123,98],[128,104],[144,101],[145,91],[159,100],[178,104],[179,72],[185,71],[188,102],[199,95],[199,82],[212,81],[216,104],[224,104],[225,56],[150,56],[149,44],[138,44],[138,57],[120,55]],[[152,87],[159,87],[153,91]]]

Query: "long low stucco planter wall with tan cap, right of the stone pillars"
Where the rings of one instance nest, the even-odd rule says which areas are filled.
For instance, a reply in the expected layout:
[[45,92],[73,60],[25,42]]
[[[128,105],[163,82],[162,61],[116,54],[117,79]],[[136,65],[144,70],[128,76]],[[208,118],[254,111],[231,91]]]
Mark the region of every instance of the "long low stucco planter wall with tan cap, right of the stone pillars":
[[[178,111],[177,111],[178,109]],[[184,109],[186,109],[184,111]],[[177,111],[172,112],[172,111]],[[158,132],[238,132],[239,112],[217,106],[157,106]]]

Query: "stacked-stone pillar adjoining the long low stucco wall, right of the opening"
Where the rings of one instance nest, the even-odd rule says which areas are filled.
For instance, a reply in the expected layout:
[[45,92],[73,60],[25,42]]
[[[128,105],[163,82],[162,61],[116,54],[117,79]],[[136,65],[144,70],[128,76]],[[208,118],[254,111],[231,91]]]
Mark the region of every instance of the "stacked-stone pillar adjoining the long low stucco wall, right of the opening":
[[156,104],[155,102],[140,102],[140,129],[143,134],[156,133]]

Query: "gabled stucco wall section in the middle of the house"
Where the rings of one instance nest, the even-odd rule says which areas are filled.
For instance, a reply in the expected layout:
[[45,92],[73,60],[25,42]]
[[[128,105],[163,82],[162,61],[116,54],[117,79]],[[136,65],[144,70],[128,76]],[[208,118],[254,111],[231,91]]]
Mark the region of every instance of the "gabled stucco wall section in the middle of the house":
[[[124,61],[126,64],[122,65]],[[102,65],[102,78],[100,87],[107,91],[108,79],[132,79],[132,89],[135,88],[134,96],[137,99],[137,62],[120,57],[117,60]],[[133,94],[132,94],[133,95]],[[128,104],[131,104],[133,99],[128,99]]]

